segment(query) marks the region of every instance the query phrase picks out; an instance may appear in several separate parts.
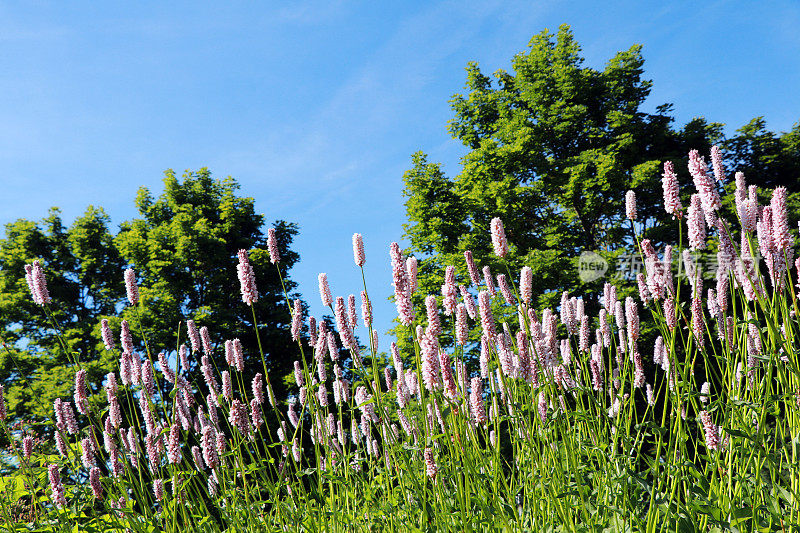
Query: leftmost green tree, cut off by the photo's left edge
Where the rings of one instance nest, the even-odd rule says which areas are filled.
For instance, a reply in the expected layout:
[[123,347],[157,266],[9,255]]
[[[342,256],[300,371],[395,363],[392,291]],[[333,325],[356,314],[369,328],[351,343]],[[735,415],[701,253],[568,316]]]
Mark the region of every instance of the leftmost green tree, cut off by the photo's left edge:
[[[0,240],[0,381],[18,417],[49,416],[53,399],[72,389],[75,360],[95,386],[112,366],[98,326],[115,312],[124,286],[108,224],[102,208],[89,206],[69,228],[55,208],[39,223],[6,225]],[[24,266],[35,259],[45,266],[53,300],[47,309],[33,303],[25,282]]]

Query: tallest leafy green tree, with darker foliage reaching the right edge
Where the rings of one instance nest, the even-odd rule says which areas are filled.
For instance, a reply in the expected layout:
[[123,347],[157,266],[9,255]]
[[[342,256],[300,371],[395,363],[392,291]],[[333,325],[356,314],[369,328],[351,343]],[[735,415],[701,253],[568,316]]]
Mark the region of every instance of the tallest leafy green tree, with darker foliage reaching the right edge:
[[[658,246],[678,243],[678,225],[663,209],[661,175],[663,163],[672,161],[688,205],[695,192],[690,149],[708,157],[719,143],[733,167],[752,175],[751,183],[762,183],[763,171],[764,185],[798,190],[800,126],[778,137],[756,120],[727,142],[724,125],[702,117],[675,128],[671,104],[644,111],[652,83],[643,77],[640,45],[597,70],[583,64],[564,25],[556,34],[534,36],[511,66],[492,78],[476,63],[467,65],[468,92],[450,101],[449,131],[469,150],[458,175],[446,176],[422,152],[404,174],[406,252],[421,256],[417,298],[439,293],[448,264],[468,285],[462,254],[471,250],[495,275],[516,280],[523,265],[531,267],[534,307],[555,308],[566,290],[583,294],[593,314],[603,282],[617,275],[615,258],[635,250],[625,219],[627,190],[637,193],[637,231]],[[503,220],[511,245],[504,261],[492,254],[494,217]],[[583,251],[608,259],[609,274],[582,281],[576,266]],[[512,308],[505,312],[516,321]]]

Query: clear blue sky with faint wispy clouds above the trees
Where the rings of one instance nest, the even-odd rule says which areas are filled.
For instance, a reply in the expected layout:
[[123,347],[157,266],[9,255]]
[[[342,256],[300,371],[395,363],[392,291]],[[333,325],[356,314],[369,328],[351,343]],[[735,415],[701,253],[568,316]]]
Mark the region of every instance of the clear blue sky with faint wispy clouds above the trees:
[[[336,294],[360,289],[354,232],[377,299],[391,292],[411,154],[458,172],[446,124],[464,66],[508,68],[561,23],[596,68],[643,44],[648,105],[673,103],[678,124],[800,120],[793,0],[2,2],[0,223],[54,205],[71,221],[94,204],[116,225],[139,186],[161,192],[164,169],[207,166],[268,219],[300,225],[292,277],[312,312],[318,272]],[[381,329],[393,316],[379,303]]]

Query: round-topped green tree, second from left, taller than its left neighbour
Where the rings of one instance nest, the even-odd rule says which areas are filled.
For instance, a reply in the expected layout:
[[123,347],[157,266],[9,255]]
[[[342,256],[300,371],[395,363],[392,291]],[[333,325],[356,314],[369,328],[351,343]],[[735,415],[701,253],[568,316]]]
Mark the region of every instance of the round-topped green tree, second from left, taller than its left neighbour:
[[[123,316],[131,324],[141,320],[154,356],[161,350],[176,351],[179,337],[188,345],[188,319],[208,327],[217,365],[220,361],[224,365],[224,341],[239,338],[246,359],[244,378],[249,382],[255,373],[263,373],[263,365],[253,313],[242,302],[236,276],[237,252],[248,250],[258,285],[259,299],[253,307],[267,370],[276,395],[283,397],[293,360],[299,356],[289,333],[283,292],[285,288],[291,297],[298,297],[288,276],[299,260],[291,250],[297,226],[285,221],[273,224],[282,285],[270,263],[264,216],[255,212],[253,198],[237,196],[238,189],[233,178],[214,179],[205,168],[187,171],[180,180],[172,170],[166,171],[164,192],[158,198],[144,187],[139,189],[140,218],[124,222],[115,239],[140,284],[141,305],[127,307]],[[199,355],[192,363],[197,370]]]

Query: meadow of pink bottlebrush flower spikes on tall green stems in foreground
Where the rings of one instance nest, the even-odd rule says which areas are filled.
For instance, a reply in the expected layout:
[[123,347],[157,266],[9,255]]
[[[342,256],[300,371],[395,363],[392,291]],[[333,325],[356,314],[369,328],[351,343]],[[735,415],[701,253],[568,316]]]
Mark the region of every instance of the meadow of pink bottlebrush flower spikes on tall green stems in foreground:
[[[304,316],[289,294],[282,304],[300,354],[286,397],[263,351],[212,344],[213,322],[184,324],[173,349],[153,343],[136,273],[120,272],[127,318],[97,325],[119,361],[102,389],[66,353],[70,395],[46,425],[29,425],[7,416],[0,388],[14,467],[0,480],[3,527],[797,531],[800,261],[787,191],[762,191],[761,205],[744,175],[725,175],[716,147],[710,159],[689,154],[686,205],[673,165],[662,167],[673,244],[642,238],[633,192],[617,200],[644,271],[634,286],[606,283],[596,313],[568,292],[536,308],[538,278],[509,267],[498,217],[494,271],[468,251],[458,269],[444,265],[435,293],[420,293],[417,259],[390,245],[399,325],[386,355],[366,283],[334,296],[320,274],[333,320]],[[733,217],[720,196],[728,180]],[[267,246],[280,276],[274,231]],[[359,234],[353,253],[366,269]],[[716,259],[710,278],[702,254]],[[48,290],[61,280],[38,261],[18,274],[41,327],[57,329]],[[245,249],[236,275],[260,345],[260,280]]]

